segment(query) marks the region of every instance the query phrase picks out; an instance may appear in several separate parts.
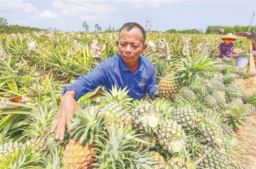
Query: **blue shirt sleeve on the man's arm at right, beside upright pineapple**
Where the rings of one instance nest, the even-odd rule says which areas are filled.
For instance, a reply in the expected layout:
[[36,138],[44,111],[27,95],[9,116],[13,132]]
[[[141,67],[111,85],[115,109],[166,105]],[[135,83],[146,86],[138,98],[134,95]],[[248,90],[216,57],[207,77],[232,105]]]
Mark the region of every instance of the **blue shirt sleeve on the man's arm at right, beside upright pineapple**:
[[150,76],[148,79],[148,87],[147,87],[147,93],[149,95],[152,95],[154,97],[158,97],[155,95],[155,93],[158,91],[158,88],[155,83],[155,67],[153,63],[150,64]]

